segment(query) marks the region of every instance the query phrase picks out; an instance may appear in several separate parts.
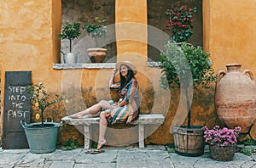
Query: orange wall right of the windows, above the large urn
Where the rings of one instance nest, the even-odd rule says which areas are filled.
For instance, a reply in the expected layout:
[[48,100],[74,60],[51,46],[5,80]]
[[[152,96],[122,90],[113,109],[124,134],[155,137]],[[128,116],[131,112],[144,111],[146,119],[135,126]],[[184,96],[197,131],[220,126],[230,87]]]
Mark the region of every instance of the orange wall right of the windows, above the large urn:
[[204,0],[204,47],[213,68],[240,63],[256,74],[256,17],[254,0]]

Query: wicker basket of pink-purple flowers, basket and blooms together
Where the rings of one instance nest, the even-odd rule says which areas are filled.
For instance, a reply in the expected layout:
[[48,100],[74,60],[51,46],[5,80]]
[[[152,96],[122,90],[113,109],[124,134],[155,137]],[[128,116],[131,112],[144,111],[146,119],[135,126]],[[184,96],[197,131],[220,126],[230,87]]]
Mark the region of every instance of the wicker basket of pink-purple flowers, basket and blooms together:
[[208,129],[205,126],[203,130],[205,142],[209,144],[212,160],[231,161],[234,159],[237,137],[241,132],[240,126],[236,126],[234,129],[220,128],[219,126]]

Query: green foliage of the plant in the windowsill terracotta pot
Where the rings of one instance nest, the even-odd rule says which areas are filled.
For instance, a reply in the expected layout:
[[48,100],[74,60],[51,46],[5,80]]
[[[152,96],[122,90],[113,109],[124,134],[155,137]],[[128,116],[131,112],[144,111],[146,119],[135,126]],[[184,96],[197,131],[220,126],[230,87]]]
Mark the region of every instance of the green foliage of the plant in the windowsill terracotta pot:
[[105,21],[106,20],[101,20],[99,17],[96,17],[93,23],[89,24],[88,20],[86,20],[87,23],[84,25],[83,29],[93,38],[106,36],[107,26],[103,25]]

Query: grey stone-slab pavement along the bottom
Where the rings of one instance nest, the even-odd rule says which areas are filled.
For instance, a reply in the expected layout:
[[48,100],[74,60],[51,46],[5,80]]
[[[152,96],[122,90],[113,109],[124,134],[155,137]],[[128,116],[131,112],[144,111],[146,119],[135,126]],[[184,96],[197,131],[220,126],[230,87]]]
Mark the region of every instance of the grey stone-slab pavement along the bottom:
[[209,150],[199,157],[185,157],[168,153],[165,146],[113,148],[104,147],[101,154],[85,154],[84,148],[63,151],[56,149],[49,154],[32,154],[29,149],[0,149],[0,167],[44,168],[256,168],[256,155],[235,154],[233,161],[211,160]]

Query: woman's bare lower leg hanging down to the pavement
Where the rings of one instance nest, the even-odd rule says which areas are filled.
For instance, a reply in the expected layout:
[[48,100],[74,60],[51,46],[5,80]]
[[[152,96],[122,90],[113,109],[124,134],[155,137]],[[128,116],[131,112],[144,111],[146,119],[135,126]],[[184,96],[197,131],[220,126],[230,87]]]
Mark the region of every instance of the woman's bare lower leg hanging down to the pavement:
[[100,115],[100,124],[99,124],[99,140],[97,149],[102,148],[103,144],[106,143],[105,133],[107,131],[108,120],[106,119],[106,115],[101,113]]

